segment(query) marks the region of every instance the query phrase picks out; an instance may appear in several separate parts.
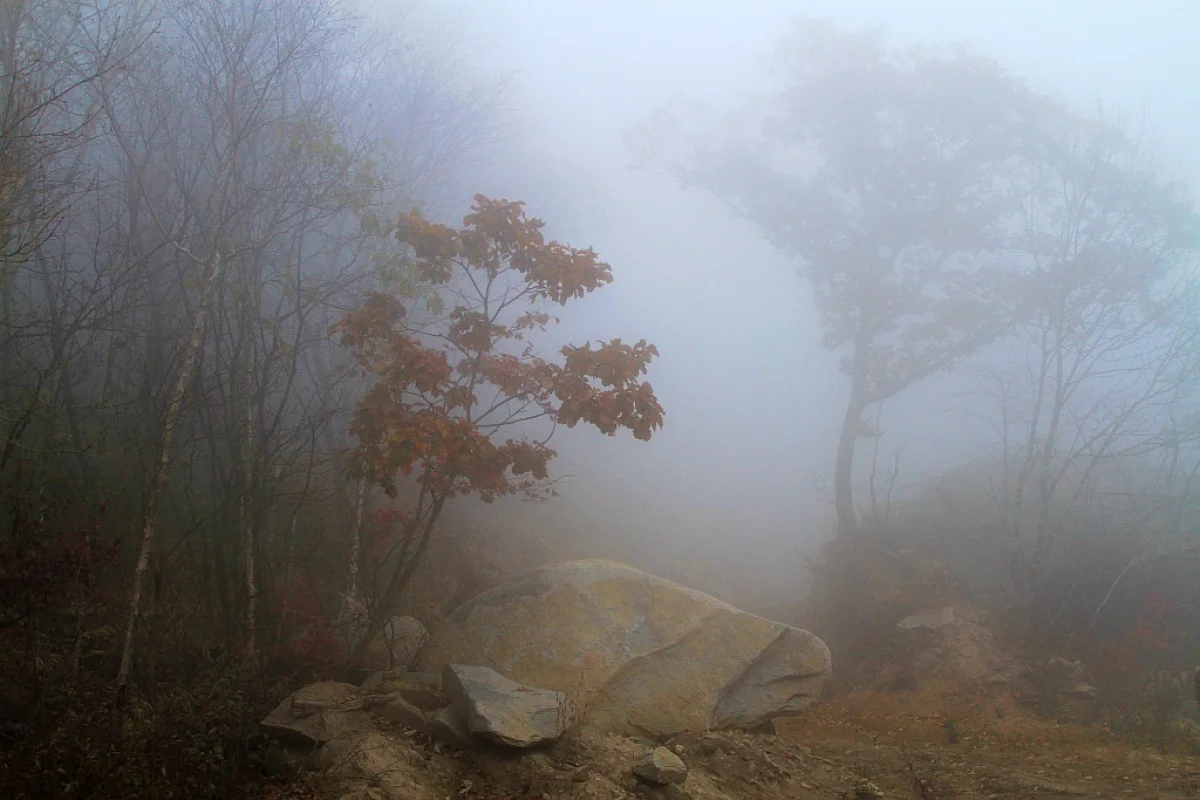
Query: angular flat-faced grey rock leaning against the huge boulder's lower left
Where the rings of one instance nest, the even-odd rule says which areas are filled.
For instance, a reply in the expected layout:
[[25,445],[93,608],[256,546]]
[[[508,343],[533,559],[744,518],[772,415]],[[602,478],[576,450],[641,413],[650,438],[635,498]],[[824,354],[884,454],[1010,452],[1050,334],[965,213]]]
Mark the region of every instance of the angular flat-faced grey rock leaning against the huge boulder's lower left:
[[510,747],[553,741],[566,730],[568,700],[562,692],[522,686],[488,669],[446,664],[446,698],[467,730]]

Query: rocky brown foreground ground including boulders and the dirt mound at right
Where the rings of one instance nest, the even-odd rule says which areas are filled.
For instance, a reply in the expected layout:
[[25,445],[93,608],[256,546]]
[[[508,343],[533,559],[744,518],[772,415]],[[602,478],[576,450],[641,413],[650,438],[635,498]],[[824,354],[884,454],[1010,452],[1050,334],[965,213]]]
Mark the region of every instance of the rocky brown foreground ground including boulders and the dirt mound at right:
[[811,633],[624,565],[550,565],[455,612],[424,672],[294,693],[264,765],[330,800],[1200,796],[1195,709],[1157,750],[1072,723],[1109,718],[1082,664],[1018,658],[962,602],[876,638],[847,693]]

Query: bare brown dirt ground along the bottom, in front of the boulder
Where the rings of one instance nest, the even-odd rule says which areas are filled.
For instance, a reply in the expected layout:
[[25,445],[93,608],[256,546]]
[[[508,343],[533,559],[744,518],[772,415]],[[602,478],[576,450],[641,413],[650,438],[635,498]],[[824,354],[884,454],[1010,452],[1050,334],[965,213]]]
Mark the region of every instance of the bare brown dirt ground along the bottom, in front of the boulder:
[[[456,752],[377,720],[406,750],[420,798],[462,800],[810,800],[880,798],[1200,798],[1200,757],[1163,754],[1103,729],[1036,717],[1006,699],[858,692],[774,733],[564,740],[538,752]],[[632,764],[666,745],[688,764],[678,789],[649,787]],[[380,799],[360,783],[293,798]],[[418,795],[409,795],[418,796]],[[409,800],[406,796],[406,800]]]

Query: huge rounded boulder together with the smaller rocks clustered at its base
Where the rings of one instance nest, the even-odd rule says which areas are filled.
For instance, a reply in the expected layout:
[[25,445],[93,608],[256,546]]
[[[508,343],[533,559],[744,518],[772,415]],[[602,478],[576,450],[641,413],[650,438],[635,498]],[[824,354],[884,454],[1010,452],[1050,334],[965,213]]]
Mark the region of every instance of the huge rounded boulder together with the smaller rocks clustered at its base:
[[[396,627],[410,633],[397,640],[424,638],[415,620]],[[438,762],[419,756],[422,747],[470,751],[479,769],[516,764],[528,780],[565,780],[563,796],[707,798],[716,778],[689,780],[683,745],[658,744],[797,714],[830,669],[828,648],[806,631],[602,560],[500,584],[451,614],[419,652],[401,655],[415,656],[413,668],[301,688],[263,732],[288,750],[288,763],[307,759],[342,781],[342,800],[446,796],[461,771],[443,760],[445,775],[432,775]],[[580,746],[588,763],[562,758]],[[469,782],[460,795],[474,796]]]

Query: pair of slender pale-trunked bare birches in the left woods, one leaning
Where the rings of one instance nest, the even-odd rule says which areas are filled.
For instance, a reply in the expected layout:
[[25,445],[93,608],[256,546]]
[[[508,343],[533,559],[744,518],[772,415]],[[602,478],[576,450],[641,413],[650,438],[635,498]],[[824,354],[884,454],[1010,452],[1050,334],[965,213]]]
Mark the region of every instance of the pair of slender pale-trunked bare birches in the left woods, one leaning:
[[[162,240],[194,270],[192,275],[198,283],[190,332],[161,417],[116,679],[118,710],[122,706],[132,669],[143,587],[155,552],[175,438],[185,420],[184,402],[196,379],[209,315],[220,297],[218,287],[228,269],[259,264],[264,248],[270,247],[280,228],[302,219],[312,207],[301,204],[298,209],[283,198],[272,197],[281,187],[276,173],[282,164],[280,161],[264,163],[263,148],[286,136],[296,121],[289,101],[295,90],[293,82],[311,72],[314,61],[330,53],[331,40],[344,31],[346,20],[336,7],[320,2],[302,6],[271,0],[168,4],[161,41],[156,42],[156,77],[169,80],[160,85],[160,91],[168,95],[151,95],[149,102],[173,101],[175,108],[193,107],[197,113],[180,115],[176,126],[164,126],[160,116],[163,107],[144,108],[145,96],[136,92],[126,92],[122,97],[108,92],[106,96],[109,125],[132,168],[137,191],[152,198],[144,207]],[[178,94],[170,96],[172,91]],[[128,120],[142,124],[131,126]],[[163,134],[169,137],[167,142],[162,142]],[[139,158],[163,144],[169,160],[145,163]],[[260,173],[265,173],[264,182],[254,180]],[[287,182],[284,187],[290,188]],[[271,203],[272,199],[276,201]],[[264,203],[269,205],[268,215],[275,217],[268,222],[274,224],[256,227],[254,223],[262,221],[256,209]],[[245,299],[252,296],[248,290],[259,288],[247,287],[242,281],[236,284],[246,293]],[[244,301],[239,306],[250,314],[259,312],[257,302]],[[248,344],[246,325],[236,327],[244,335],[242,344]],[[244,649],[247,660],[252,660],[257,589],[254,511],[248,494],[258,471],[250,450],[254,432],[251,417],[253,350],[247,348],[244,361],[244,369],[233,365],[229,377],[233,391],[245,393],[245,402],[239,404],[240,421],[234,426],[241,435],[235,435],[234,441],[247,445],[245,452],[235,452],[241,456],[240,470],[245,477],[240,499],[246,608]]]

